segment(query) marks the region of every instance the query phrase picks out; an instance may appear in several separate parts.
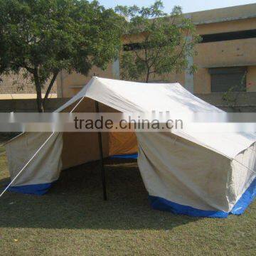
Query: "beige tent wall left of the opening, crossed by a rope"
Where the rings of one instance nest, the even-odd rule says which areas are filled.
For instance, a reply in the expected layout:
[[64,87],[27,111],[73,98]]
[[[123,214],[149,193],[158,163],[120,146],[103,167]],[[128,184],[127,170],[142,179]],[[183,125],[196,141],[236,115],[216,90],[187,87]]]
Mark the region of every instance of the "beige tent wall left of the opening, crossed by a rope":
[[[6,144],[9,172],[13,181],[23,166],[50,137],[51,133],[28,132]],[[63,147],[62,133],[53,134],[9,188],[21,193],[46,193],[59,177]]]

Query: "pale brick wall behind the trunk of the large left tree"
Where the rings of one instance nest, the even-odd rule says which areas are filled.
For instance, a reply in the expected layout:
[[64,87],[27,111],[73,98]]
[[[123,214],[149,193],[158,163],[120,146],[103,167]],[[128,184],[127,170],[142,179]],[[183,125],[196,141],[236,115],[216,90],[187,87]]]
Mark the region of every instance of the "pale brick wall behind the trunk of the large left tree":
[[[46,92],[47,88],[43,88],[42,93]],[[57,92],[57,85],[53,85],[50,93]],[[35,85],[29,78],[23,78],[23,74],[19,75],[1,75],[0,94],[34,94],[36,93]]]

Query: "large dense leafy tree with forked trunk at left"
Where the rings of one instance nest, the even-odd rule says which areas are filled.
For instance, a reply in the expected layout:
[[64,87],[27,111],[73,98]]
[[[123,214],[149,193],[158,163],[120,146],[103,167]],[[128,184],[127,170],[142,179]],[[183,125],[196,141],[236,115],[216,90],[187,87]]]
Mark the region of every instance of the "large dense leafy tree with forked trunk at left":
[[97,1],[0,0],[0,74],[24,70],[43,112],[60,70],[87,75],[116,58],[123,21]]

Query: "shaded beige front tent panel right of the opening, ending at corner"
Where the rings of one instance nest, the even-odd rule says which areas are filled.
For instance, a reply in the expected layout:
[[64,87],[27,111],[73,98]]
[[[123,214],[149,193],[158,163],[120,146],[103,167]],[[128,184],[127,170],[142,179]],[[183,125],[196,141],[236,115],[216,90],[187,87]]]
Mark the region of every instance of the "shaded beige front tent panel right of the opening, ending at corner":
[[137,137],[139,169],[153,208],[167,209],[169,204],[170,210],[189,215],[228,213],[230,159],[170,133]]

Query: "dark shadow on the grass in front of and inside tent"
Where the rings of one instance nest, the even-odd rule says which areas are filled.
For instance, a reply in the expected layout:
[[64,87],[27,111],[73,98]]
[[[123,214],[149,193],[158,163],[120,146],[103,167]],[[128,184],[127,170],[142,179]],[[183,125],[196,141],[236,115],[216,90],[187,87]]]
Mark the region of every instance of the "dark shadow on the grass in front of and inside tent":
[[[0,226],[170,230],[198,218],[152,210],[136,163],[106,165],[108,201],[102,200],[98,162],[63,171],[45,196],[7,192],[0,199]],[[0,186],[8,180],[1,180]]]

